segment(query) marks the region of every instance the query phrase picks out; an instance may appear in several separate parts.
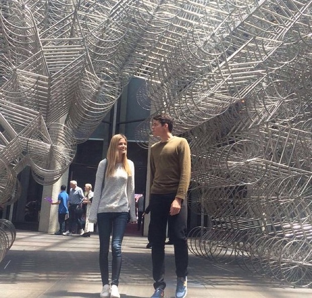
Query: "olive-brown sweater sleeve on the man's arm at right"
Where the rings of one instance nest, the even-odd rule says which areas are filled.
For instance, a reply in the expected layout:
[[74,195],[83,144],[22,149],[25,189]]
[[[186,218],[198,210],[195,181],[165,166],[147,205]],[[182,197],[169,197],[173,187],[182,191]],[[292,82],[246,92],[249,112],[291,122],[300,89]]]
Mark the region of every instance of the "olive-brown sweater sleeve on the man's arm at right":
[[180,143],[179,163],[180,163],[180,182],[176,197],[185,199],[191,180],[191,150],[185,138]]

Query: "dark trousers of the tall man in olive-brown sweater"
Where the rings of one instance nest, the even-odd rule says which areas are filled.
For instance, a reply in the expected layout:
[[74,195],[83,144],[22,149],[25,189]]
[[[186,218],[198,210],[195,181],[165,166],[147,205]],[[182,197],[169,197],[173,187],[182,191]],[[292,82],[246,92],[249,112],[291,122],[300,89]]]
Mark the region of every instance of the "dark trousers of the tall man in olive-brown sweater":
[[170,241],[174,244],[177,277],[187,276],[187,203],[182,201],[179,214],[171,216],[170,207],[175,199],[172,194],[150,195],[150,223],[148,240],[151,242],[154,288],[165,288],[165,241],[168,222]]

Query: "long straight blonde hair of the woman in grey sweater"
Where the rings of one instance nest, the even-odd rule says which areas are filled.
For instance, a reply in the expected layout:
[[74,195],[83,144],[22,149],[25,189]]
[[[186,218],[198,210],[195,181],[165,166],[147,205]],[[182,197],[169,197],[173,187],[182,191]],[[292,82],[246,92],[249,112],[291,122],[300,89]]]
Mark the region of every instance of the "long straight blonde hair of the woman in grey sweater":
[[[128,144],[128,140],[127,138],[119,133],[119,134],[115,134],[113,135],[109,147],[108,147],[108,151],[107,151],[107,161],[108,161],[108,167],[106,170],[106,176],[113,176],[114,172],[115,172],[115,166],[118,162],[118,142],[120,139],[124,138]],[[127,151],[125,154],[122,155],[122,166],[124,168],[124,170],[127,172],[128,176],[131,176],[131,169],[128,163],[128,159],[127,159]]]

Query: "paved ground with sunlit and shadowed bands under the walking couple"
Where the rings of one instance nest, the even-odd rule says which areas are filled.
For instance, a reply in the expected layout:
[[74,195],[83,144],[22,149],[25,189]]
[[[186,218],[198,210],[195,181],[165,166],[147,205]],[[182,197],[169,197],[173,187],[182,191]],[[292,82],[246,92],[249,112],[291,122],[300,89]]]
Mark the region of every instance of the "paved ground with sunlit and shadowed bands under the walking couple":
[[[152,279],[146,238],[126,236],[121,298],[150,297]],[[98,298],[102,288],[98,236],[55,236],[18,231],[0,263],[1,298]],[[173,247],[166,247],[166,298],[173,298]],[[312,289],[293,288],[257,277],[238,265],[216,265],[190,254],[188,298],[307,298]]]

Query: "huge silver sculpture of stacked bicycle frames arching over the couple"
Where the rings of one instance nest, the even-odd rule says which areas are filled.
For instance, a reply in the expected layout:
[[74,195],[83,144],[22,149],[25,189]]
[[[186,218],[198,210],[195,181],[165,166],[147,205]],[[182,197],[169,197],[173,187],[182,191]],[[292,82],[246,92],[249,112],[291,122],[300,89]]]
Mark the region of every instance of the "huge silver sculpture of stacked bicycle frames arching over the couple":
[[138,76],[139,104],[168,111],[190,141],[189,204],[209,218],[190,251],[311,284],[310,1],[0,4],[1,204],[26,166],[56,181]]

